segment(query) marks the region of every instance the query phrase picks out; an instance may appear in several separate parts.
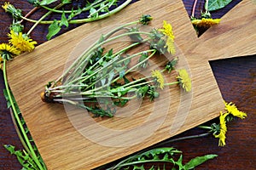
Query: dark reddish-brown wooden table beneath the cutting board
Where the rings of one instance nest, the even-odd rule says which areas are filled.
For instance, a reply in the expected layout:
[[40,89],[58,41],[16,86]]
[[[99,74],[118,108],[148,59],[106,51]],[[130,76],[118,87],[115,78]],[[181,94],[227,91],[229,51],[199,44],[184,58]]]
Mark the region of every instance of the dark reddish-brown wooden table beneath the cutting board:
[[[0,0],[1,5],[4,2]],[[33,8],[26,0],[9,0],[9,2],[15,4],[15,7],[21,8],[24,14]],[[77,1],[74,2],[77,3]],[[183,0],[183,3],[189,17],[194,1]],[[212,13],[212,17],[223,16],[237,3],[239,1],[233,1],[228,7]],[[200,14],[200,10],[203,9],[203,5],[204,1],[199,0],[195,13],[197,16]],[[9,32],[11,16],[4,13],[3,8],[0,9],[0,13],[0,42],[8,42],[6,35]],[[32,18],[38,18],[42,14],[44,14],[44,10],[39,9],[36,14],[32,15]],[[24,24],[25,31],[32,26],[30,23]],[[76,26],[79,25],[70,26],[68,29],[61,31],[61,33],[69,31]],[[46,41],[46,34],[47,26],[41,25],[32,31],[31,37],[38,44],[41,44]],[[256,56],[215,60],[211,61],[210,64],[224,100],[234,102],[241,111],[247,112],[247,118],[245,120],[236,119],[228,124],[226,145],[224,147],[219,147],[218,139],[214,139],[212,136],[158,144],[158,146],[173,146],[178,150],[182,150],[184,162],[195,156],[218,155],[217,158],[207,161],[196,169],[256,169]],[[3,144],[13,144],[17,149],[22,149],[15,127],[12,124],[9,110],[6,107],[3,88],[3,72],[0,71],[0,169],[20,169],[20,164],[15,156],[11,156],[9,151],[3,148]],[[218,122],[218,119],[206,124],[210,125],[212,122]],[[201,129],[195,127],[172,139],[199,133],[202,133]]]

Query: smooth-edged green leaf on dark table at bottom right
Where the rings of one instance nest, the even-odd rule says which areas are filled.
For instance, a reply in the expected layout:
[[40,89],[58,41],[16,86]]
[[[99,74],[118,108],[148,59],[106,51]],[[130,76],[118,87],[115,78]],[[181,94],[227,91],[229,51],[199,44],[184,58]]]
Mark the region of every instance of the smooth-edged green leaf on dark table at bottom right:
[[206,156],[197,156],[193,159],[191,159],[188,163],[184,165],[185,169],[193,169],[199,165],[201,165],[203,162],[208,161],[210,159],[213,159],[214,157],[217,157],[218,155],[210,154]]

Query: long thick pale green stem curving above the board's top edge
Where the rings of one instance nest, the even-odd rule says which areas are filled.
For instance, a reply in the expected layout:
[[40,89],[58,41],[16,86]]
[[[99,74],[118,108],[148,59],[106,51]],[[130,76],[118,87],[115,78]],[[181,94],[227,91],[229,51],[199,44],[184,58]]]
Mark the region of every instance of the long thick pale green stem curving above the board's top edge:
[[[102,20],[104,18],[107,18],[108,16],[115,14],[117,12],[119,12],[122,8],[125,8],[125,6],[127,6],[129,3],[131,3],[132,0],[127,0],[125,3],[122,3],[118,8],[114,8],[112,11],[110,11],[109,13],[105,13],[105,14],[101,14],[96,18],[89,18],[89,19],[80,19],[80,20],[70,20],[68,21],[69,24],[82,24],[82,23],[86,23],[86,22],[92,22],[95,20]],[[36,23],[38,20],[31,20],[28,19],[26,17],[21,16],[21,19],[23,20],[27,20],[29,22],[33,22]],[[39,24],[51,24],[53,23],[54,20],[42,20],[39,22]],[[59,21],[61,22],[61,21]]]

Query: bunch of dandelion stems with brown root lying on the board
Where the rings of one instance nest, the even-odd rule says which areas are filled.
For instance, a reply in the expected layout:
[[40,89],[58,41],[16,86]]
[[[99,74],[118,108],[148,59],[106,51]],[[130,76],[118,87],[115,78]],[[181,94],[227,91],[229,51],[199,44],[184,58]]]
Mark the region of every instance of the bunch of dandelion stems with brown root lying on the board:
[[[42,100],[76,105],[90,111],[94,116],[111,117],[115,113],[113,105],[123,106],[131,99],[143,99],[145,96],[153,100],[159,96],[157,88],[180,83],[178,80],[165,83],[162,75],[164,71],[173,70],[177,63],[176,58],[168,62],[164,69],[151,71],[149,76],[129,78],[132,72],[147,69],[148,59],[153,58],[154,54],[175,53],[172,26],[164,21],[163,29],[151,28],[150,31],[142,31],[150,20],[152,17],[146,14],[139,20],[117,26],[102,35],[73,61],[61,77],[45,86],[44,93],[41,94]],[[131,42],[124,48],[111,48],[105,52],[108,42],[125,37],[129,37]],[[141,48],[143,45],[148,49]],[[128,54],[132,48],[138,46],[143,50]],[[136,58],[139,58],[137,63],[132,65],[131,59]],[[106,99],[113,99],[112,104]],[[106,108],[84,105],[96,104],[97,101],[103,102]]]

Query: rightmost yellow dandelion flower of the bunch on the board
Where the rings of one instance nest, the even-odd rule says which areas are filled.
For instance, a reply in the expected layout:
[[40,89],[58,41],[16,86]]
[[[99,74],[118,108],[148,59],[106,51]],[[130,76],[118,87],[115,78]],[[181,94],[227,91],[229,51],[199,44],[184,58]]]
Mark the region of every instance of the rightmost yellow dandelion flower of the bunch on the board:
[[185,89],[186,92],[191,91],[191,79],[189,77],[188,72],[185,69],[181,69],[178,71],[177,80],[181,84],[182,88]]

